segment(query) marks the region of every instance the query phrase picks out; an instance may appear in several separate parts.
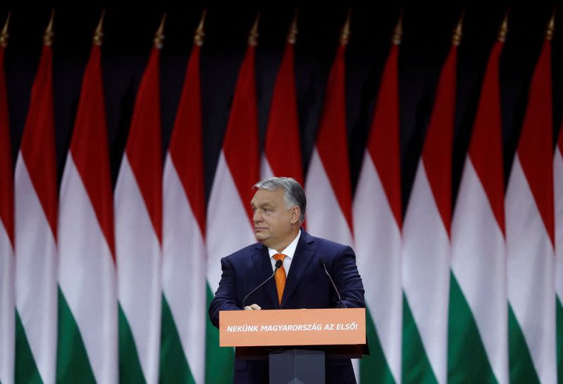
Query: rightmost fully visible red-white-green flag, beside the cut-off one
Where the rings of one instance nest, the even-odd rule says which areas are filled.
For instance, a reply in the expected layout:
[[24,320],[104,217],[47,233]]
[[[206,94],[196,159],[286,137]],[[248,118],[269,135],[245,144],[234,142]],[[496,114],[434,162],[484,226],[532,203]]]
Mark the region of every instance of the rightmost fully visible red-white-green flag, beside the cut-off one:
[[508,182],[510,380],[555,383],[551,45],[545,40]]

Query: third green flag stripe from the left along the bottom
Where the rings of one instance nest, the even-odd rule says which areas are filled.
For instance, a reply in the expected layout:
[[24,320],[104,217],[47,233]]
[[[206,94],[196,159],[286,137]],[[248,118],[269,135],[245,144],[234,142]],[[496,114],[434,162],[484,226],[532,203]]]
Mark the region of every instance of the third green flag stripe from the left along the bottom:
[[133,333],[121,305],[119,312],[119,381],[120,383],[146,383],[135,346]]

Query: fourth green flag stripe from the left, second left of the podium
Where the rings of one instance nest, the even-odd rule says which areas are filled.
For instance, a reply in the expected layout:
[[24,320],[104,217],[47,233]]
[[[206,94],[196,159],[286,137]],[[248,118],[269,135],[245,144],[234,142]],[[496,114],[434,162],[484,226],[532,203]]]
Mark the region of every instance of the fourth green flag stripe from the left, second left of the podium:
[[[162,326],[160,329],[160,383],[195,384],[170,305],[163,294]],[[203,314],[202,314],[203,315]]]

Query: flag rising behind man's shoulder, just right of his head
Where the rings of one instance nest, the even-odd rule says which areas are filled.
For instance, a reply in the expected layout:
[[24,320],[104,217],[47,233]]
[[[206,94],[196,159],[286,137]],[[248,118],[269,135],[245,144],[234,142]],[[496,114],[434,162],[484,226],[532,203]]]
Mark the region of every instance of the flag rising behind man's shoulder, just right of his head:
[[[350,15],[331,67],[305,195],[307,228],[314,236],[353,246],[350,159],[346,130],[346,64]],[[353,360],[358,377],[358,360]]]

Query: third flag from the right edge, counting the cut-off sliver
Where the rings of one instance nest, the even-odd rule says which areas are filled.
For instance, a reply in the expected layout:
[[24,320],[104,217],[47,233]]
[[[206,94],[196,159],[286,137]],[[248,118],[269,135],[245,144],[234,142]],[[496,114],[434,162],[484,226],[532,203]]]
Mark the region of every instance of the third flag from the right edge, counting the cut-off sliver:
[[452,222],[448,380],[508,383],[504,177],[497,41]]

